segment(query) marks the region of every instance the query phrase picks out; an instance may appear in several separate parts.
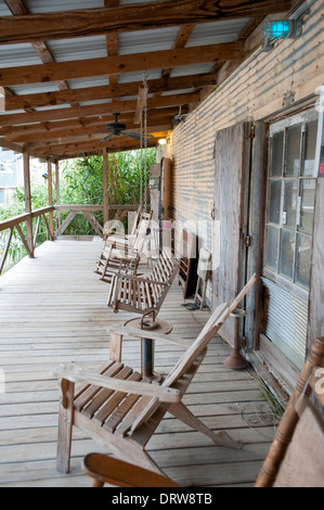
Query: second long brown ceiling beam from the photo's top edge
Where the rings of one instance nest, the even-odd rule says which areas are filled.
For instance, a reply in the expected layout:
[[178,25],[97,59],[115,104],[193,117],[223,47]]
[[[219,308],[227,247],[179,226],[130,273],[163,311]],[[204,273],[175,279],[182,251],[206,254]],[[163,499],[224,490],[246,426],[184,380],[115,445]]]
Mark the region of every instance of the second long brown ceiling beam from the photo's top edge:
[[243,58],[243,54],[244,44],[242,42],[226,42],[83,61],[7,67],[0,68],[0,86],[41,84],[60,79],[98,77],[106,74],[143,73],[158,68],[236,60]]

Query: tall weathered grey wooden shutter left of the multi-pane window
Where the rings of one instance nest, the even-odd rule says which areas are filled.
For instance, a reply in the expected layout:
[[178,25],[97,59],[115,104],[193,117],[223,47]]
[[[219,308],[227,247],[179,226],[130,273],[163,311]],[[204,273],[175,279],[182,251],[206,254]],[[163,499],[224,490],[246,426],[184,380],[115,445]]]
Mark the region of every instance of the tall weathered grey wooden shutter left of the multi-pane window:
[[[216,132],[213,307],[231,303],[245,283],[249,154],[249,123]],[[234,344],[242,334],[242,319],[231,318],[220,334]]]

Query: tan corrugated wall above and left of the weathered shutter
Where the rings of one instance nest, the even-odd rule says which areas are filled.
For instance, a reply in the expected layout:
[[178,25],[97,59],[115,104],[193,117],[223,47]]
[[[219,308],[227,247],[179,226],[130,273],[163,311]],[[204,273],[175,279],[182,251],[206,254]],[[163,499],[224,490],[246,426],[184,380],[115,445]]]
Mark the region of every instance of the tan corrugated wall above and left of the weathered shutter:
[[295,102],[324,84],[323,2],[303,17],[302,36],[258,51],[171,135],[160,157],[173,160],[174,219],[204,220],[198,237],[211,248],[215,182],[215,135],[219,129],[267,117],[283,109],[290,92]]

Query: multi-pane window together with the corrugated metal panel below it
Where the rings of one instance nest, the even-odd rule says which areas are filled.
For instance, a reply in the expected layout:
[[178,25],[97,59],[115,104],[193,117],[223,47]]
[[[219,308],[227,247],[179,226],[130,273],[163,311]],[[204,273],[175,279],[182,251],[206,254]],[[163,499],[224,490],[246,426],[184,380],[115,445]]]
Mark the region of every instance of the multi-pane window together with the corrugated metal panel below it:
[[265,336],[298,369],[304,362],[316,171],[317,113],[270,127],[263,284]]

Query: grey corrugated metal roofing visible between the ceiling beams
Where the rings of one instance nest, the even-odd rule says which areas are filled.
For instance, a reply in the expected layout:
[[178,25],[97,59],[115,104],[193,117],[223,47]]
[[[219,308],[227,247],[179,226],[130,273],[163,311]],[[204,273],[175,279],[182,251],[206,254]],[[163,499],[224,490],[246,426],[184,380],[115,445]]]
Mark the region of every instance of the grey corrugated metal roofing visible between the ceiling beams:
[[[120,0],[120,5],[131,3],[143,3],[147,0]],[[156,0],[152,0],[154,2]],[[63,2],[57,0],[25,0],[25,5],[30,13],[57,12],[74,9],[93,9],[104,7],[104,0],[67,0]],[[1,11],[7,13],[9,9],[3,5]],[[196,25],[191,35],[186,47],[198,47],[203,44],[216,44],[234,41],[249,18],[231,20],[225,22],[212,22]],[[118,54],[135,54],[147,51],[164,51],[173,48],[180,27],[168,27],[159,29],[148,29],[140,31],[121,33],[118,35]],[[86,59],[98,59],[107,56],[106,38],[104,35],[95,37],[72,38],[63,40],[47,41],[55,62],[81,61]],[[23,65],[41,64],[31,44],[5,44],[0,48],[0,67],[14,67]],[[193,65],[179,67],[172,71],[172,77],[186,75],[196,75],[209,73],[212,64]],[[160,78],[161,69],[147,73],[147,79]],[[143,73],[127,73],[118,77],[118,82],[126,84],[131,81],[141,81]],[[70,88],[96,87],[108,85],[108,77],[100,76],[98,78],[85,78],[68,81]],[[40,86],[14,87],[17,94],[46,92],[57,90],[54,84],[42,84]]]

